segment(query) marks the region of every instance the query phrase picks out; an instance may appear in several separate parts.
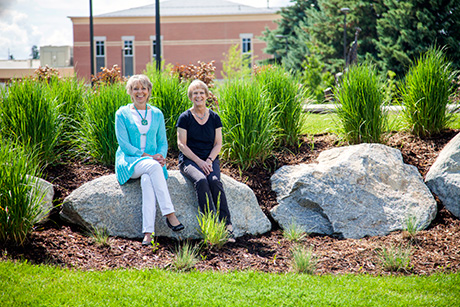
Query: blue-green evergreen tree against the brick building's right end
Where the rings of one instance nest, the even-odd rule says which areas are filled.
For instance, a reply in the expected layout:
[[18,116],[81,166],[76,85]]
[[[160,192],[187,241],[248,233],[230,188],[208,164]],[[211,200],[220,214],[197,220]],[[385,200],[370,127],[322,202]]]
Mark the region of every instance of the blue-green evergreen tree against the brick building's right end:
[[[267,47],[264,52],[273,54],[275,61],[281,61],[288,70],[300,70],[308,53],[309,37],[304,28],[308,25],[306,12],[316,0],[291,0],[292,5],[281,9],[281,19],[277,21],[275,30],[263,32]],[[278,37],[277,37],[278,36]]]

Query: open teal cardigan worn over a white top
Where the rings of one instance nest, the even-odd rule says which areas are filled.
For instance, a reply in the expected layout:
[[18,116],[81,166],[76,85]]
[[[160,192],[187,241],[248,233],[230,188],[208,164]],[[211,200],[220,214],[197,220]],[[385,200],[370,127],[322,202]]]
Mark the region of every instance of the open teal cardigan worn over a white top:
[[[126,183],[134,173],[134,166],[141,160],[152,157],[141,157],[141,134],[134,122],[130,106],[122,106],[115,114],[115,134],[118,140],[118,149],[115,156],[115,174],[120,184]],[[150,128],[147,131],[145,152],[150,155],[162,154],[166,158],[168,140],[163,113],[160,109],[148,105],[152,109]],[[165,178],[168,178],[166,165],[163,167]]]

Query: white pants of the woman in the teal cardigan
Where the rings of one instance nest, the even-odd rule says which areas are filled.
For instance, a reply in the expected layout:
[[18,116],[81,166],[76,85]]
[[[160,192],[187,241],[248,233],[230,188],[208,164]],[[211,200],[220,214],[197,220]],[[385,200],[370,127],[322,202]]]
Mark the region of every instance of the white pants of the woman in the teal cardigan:
[[158,161],[144,159],[134,166],[132,179],[141,178],[142,189],[142,232],[155,232],[156,204],[158,201],[163,216],[174,212],[169,196],[163,168]]

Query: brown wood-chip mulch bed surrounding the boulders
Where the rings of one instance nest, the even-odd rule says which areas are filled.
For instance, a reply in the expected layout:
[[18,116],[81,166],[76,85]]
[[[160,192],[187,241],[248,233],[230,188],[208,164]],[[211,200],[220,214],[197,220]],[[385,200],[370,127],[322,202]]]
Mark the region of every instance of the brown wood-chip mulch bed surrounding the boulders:
[[[404,161],[418,168],[425,176],[440,150],[459,130],[450,130],[430,138],[417,138],[406,133],[395,133],[388,145],[398,148]],[[277,152],[264,165],[248,171],[240,171],[231,165],[223,165],[223,173],[246,183],[255,192],[265,214],[276,203],[276,195],[270,188],[270,177],[283,165],[310,163],[326,149],[340,146],[334,135],[316,135],[305,138],[299,148]],[[169,169],[177,164],[177,154],[168,158]],[[70,162],[46,170],[48,180],[55,185],[55,202],[60,203],[74,189],[102,175],[113,173],[113,168],[101,165]],[[400,274],[433,274],[458,272],[460,269],[460,220],[443,208],[437,199],[439,212],[427,230],[420,231],[415,240],[403,232],[385,237],[363,239],[338,239],[312,235],[300,244],[312,246],[318,257],[317,273],[389,274],[382,269],[378,251],[384,247],[412,246],[411,268]],[[263,272],[287,272],[290,270],[290,251],[297,244],[283,237],[276,222],[273,229],[261,236],[237,238],[236,243],[226,244],[220,250],[202,250],[196,268],[200,271],[258,270]],[[82,270],[106,270],[116,268],[167,268],[174,259],[178,242],[159,238],[159,248],[141,246],[140,241],[110,238],[109,247],[98,247],[91,237],[79,229],[59,220],[57,212],[52,220],[37,227],[23,247],[0,246],[0,259],[27,259],[30,263],[45,263]],[[198,243],[198,241],[196,242]]]

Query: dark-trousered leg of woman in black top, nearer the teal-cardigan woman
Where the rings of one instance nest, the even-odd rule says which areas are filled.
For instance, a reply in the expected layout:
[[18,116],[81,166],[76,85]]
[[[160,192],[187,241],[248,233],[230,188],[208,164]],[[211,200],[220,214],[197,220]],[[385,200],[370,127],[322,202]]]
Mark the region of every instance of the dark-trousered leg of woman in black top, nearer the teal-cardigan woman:
[[215,211],[208,180],[200,167],[195,162],[189,159],[184,159],[184,162],[179,165],[179,169],[180,172],[188,178],[195,187],[200,212],[204,213],[208,210],[208,208]]

